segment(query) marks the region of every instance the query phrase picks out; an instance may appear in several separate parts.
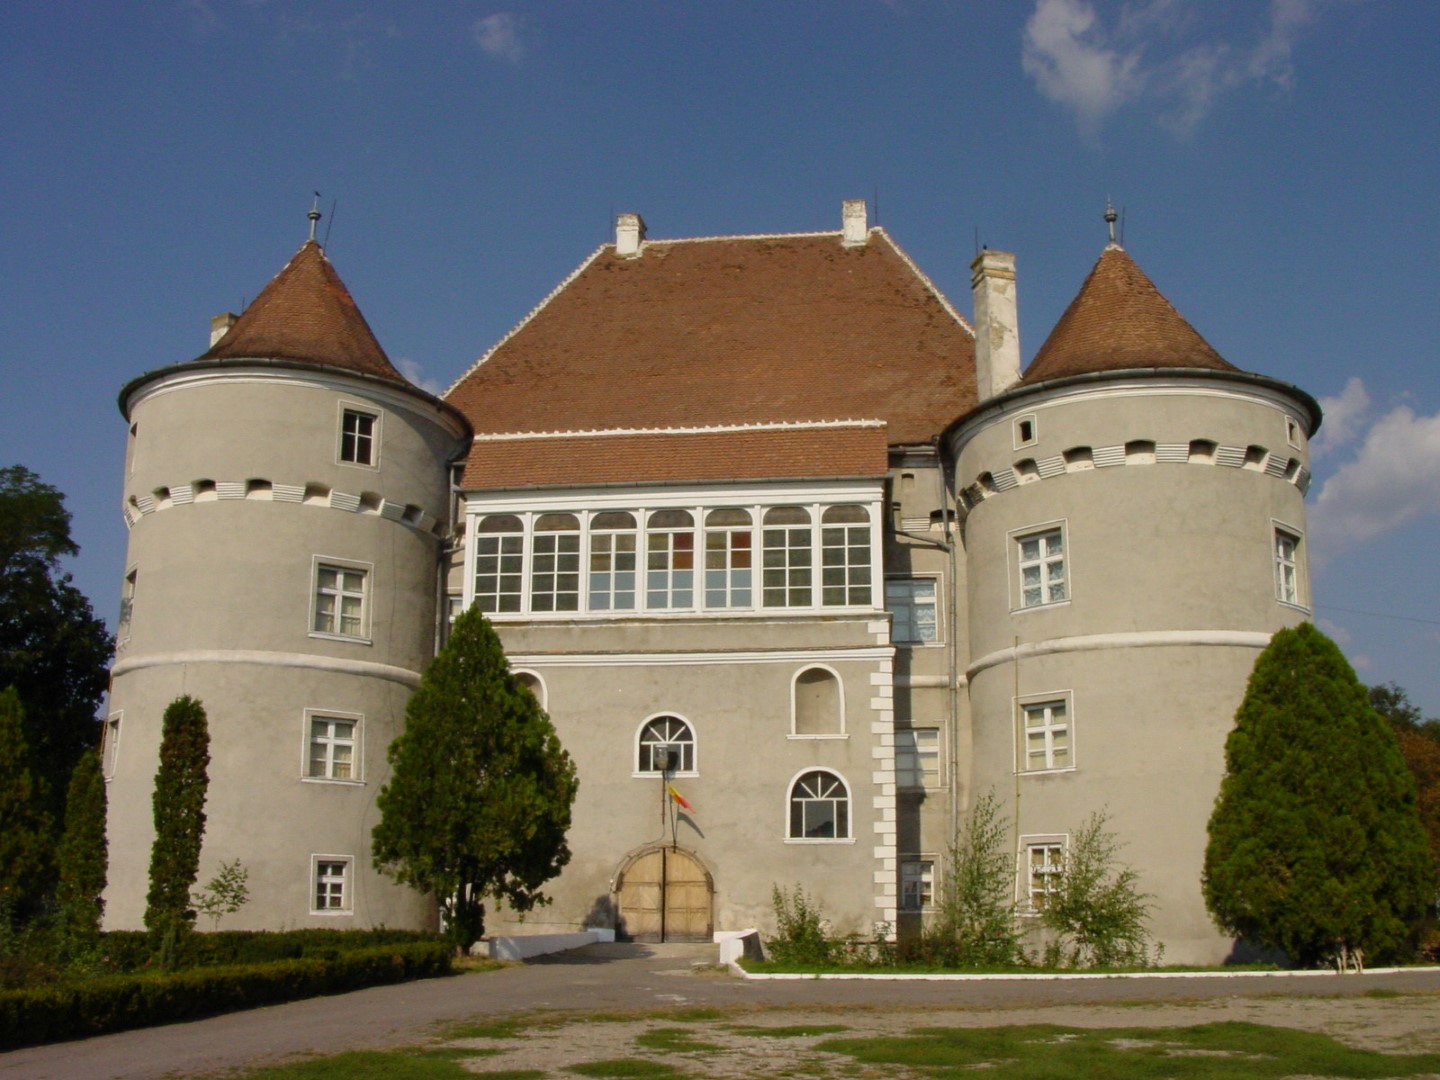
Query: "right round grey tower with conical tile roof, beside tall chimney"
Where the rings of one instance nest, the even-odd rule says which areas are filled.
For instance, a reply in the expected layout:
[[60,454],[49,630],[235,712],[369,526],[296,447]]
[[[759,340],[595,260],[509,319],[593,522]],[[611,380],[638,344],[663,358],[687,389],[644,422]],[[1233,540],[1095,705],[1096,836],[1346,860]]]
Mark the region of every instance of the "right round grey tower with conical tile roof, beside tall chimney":
[[1223,360],[1112,243],[1024,379],[949,431],[972,775],[1015,822],[1022,909],[1103,812],[1166,959],[1230,953],[1201,899],[1205,825],[1254,660],[1309,616],[1319,420],[1309,395]]

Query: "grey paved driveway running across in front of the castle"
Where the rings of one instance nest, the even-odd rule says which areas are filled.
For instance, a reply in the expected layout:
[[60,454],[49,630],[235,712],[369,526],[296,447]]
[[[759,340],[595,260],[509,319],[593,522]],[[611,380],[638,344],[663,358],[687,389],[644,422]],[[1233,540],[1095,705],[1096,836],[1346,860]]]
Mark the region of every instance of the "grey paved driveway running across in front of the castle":
[[[314,998],[192,1024],[0,1054],[0,1080],[189,1077],[295,1054],[418,1043],[445,1024],[531,1009],[1030,1011],[1116,1002],[1260,999],[1282,995],[1437,995],[1440,972],[1276,979],[1071,979],[1044,982],[755,982],[706,965],[714,946],[593,945],[497,972]],[[698,966],[697,966],[698,965]],[[1017,1020],[996,1015],[992,1022]]]

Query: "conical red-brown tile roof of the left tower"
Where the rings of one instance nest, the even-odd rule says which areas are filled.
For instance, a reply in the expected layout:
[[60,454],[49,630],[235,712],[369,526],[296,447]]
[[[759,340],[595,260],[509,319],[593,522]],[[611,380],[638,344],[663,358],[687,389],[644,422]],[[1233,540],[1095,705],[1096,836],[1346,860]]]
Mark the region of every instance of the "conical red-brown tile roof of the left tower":
[[324,251],[307,240],[199,360],[294,360],[408,383]]

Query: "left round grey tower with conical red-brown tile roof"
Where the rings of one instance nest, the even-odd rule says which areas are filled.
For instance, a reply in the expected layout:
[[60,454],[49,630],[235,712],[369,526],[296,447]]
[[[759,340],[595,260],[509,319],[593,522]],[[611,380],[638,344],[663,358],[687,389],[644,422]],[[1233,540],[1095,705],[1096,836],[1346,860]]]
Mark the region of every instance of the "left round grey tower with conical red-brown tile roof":
[[197,360],[128,383],[107,924],[143,923],[166,706],[210,727],[199,884],[228,929],[433,923],[370,864],[386,749],[433,655],[448,462],[469,426],[390,364],[307,242]]

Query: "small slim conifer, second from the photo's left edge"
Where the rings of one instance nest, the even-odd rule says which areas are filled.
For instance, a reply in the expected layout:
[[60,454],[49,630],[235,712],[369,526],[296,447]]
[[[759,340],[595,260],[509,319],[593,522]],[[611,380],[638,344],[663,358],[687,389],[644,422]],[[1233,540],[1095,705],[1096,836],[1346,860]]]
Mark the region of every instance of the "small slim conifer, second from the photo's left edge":
[[88,750],[75,766],[65,796],[65,832],[56,857],[55,906],[65,948],[78,955],[99,940],[105,912],[105,778],[99,755]]

